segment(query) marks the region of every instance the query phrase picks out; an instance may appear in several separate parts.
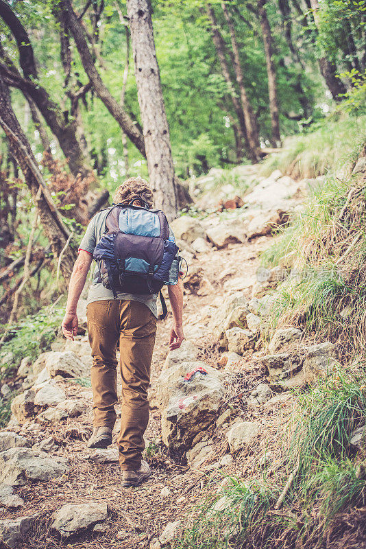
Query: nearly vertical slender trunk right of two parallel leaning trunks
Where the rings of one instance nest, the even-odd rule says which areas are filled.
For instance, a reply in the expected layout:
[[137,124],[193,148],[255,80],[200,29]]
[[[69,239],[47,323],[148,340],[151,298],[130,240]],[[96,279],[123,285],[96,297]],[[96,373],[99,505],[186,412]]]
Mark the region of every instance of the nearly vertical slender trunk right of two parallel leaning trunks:
[[271,27],[267,17],[267,11],[265,8],[267,0],[258,0],[258,12],[260,27],[263,34],[263,45],[265,46],[266,66],[267,66],[267,78],[268,78],[268,94],[269,94],[269,112],[271,113],[271,128],[272,139],[271,145],[273,148],[281,146],[280,135],[280,118],[278,114],[278,95],[277,95],[277,82],[276,82],[276,67],[273,62],[273,47],[272,47],[272,34]]

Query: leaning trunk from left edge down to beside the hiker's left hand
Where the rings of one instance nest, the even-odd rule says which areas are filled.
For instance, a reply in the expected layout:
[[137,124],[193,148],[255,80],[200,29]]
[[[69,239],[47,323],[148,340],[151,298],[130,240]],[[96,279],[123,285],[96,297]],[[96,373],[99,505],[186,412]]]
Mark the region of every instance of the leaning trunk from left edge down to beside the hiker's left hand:
[[[49,195],[47,186],[42,180],[42,175],[38,171],[38,164],[34,158],[29,141],[21,129],[19,121],[14,114],[14,110],[12,110],[8,86],[6,86],[1,75],[0,125],[3,128],[5,135],[8,137],[10,152],[21,167],[25,183],[32,194],[32,198],[34,199],[40,215],[43,230],[45,231],[45,235],[49,240],[51,250],[55,257],[58,257],[65,248],[60,268],[64,278],[67,280],[73,270],[76,250],[74,250],[71,245],[66,246],[66,243],[70,242],[69,229],[67,229],[66,225],[62,222],[60,214]],[[40,186],[42,186],[42,192],[36,200]]]

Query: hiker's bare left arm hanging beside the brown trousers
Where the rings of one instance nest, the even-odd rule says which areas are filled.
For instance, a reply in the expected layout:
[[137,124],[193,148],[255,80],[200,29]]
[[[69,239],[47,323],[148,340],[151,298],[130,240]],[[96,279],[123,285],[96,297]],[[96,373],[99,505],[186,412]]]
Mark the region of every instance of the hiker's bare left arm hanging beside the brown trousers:
[[67,296],[66,303],[66,313],[64,320],[62,320],[62,333],[67,339],[73,340],[74,336],[77,335],[77,326],[79,325],[79,320],[77,319],[76,314],[77,302],[79,301],[80,295],[83,291],[86,275],[88,274],[92,261],[93,255],[90,255],[90,253],[85,250],[80,250],[71,274],[69,294]]

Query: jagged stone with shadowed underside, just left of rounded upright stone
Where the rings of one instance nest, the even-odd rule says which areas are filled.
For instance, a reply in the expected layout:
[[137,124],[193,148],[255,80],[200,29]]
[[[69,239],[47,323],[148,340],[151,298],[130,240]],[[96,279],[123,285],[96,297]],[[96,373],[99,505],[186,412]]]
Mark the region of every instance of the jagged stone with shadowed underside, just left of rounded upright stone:
[[289,382],[289,379],[294,377],[302,368],[303,358],[300,355],[279,353],[276,355],[267,355],[261,358],[260,362],[269,373],[268,381],[271,388],[286,390],[286,384]]

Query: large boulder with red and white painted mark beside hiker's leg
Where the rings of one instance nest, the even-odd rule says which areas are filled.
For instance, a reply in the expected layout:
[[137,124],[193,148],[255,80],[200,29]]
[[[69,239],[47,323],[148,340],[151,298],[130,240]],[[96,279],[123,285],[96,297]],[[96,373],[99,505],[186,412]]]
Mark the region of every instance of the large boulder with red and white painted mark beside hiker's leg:
[[[197,366],[204,368],[207,374],[197,372],[190,381],[184,381]],[[162,441],[169,449],[185,452],[195,436],[217,417],[224,394],[222,375],[204,362],[184,362],[162,372],[164,374],[164,383],[159,378],[160,399],[163,404],[169,401],[162,411]],[[169,377],[175,379],[175,383],[169,383]]]

